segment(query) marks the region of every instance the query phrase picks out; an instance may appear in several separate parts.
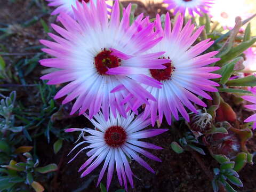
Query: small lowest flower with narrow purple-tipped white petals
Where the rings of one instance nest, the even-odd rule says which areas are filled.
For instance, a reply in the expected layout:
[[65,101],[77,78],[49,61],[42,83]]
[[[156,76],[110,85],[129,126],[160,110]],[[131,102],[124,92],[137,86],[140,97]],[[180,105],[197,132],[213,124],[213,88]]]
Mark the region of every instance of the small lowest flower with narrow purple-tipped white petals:
[[[85,116],[88,118],[87,115]],[[81,177],[91,173],[104,161],[102,170],[99,174],[97,186],[107,170],[108,189],[113,177],[114,167],[116,167],[119,183],[121,186],[124,183],[124,187],[127,191],[127,179],[133,187],[133,172],[129,162],[127,161],[127,157],[134,159],[147,170],[155,173],[148,163],[146,163],[138,154],[142,154],[150,159],[153,159],[154,161],[161,162],[161,159],[142,148],[162,148],[148,142],[139,141],[138,139],[154,137],[155,135],[167,131],[167,129],[143,130],[145,127],[150,125],[150,119],[143,120],[140,116],[134,119],[134,113],[131,112],[127,113],[126,119],[119,114],[117,115],[117,118],[115,118],[114,115],[110,113],[108,121],[105,121],[102,113],[100,112],[90,121],[95,126],[95,130],[76,128],[66,130],[66,132],[82,131],[84,133],[91,134],[83,137],[84,141],[78,143],[74,147],[75,149],[84,143],[90,143],[89,146],[82,148],[75,155],[76,157],[79,153],[81,153],[81,151],[91,149],[86,153],[86,155],[90,158],[87,159],[87,161],[79,169],[79,171],[82,171],[86,168],[81,174]],[[73,157],[70,162],[73,161],[75,157]]]

